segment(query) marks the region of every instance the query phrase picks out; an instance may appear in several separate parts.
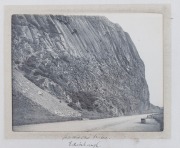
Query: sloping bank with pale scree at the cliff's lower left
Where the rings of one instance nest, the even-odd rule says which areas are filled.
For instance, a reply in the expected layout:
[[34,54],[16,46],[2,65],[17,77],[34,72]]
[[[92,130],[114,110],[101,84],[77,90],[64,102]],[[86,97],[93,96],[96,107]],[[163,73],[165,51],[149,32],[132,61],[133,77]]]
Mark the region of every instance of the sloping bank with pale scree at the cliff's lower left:
[[13,70],[13,125],[80,119],[81,113]]

